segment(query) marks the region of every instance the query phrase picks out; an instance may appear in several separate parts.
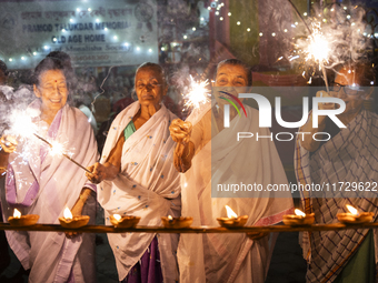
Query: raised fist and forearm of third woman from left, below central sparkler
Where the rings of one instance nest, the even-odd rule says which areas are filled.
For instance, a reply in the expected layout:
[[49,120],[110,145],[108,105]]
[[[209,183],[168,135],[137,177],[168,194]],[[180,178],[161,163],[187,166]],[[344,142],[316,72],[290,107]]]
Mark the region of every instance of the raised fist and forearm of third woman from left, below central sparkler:
[[190,141],[191,130],[191,123],[180,119],[175,119],[169,127],[170,135],[177,142],[173,163],[179,172],[190,169],[195,155],[195,144]]

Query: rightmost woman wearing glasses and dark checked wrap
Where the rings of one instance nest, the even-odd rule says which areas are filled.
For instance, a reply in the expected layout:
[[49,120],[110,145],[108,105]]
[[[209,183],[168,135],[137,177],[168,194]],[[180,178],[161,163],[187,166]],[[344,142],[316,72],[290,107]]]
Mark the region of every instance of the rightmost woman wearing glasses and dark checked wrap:
[[[312,113],[297,140],[296,174],[302,185],[328,184],[331,190],[304,192],[307,213],[315,212],[320,224],[337,222],[337,213],[347,212],[346,204],[378,215],[374,186],[378,180],[378,117],[364,108],[375,81],[371,63],[346,63],[336,73],[330,92],[317,97],[336,97],[346,103],[337,118],[346,125],[339,129],[328,117],[319,117],[312,128]],[[336,109],[335,103],[319,103],[319,109]],[[326,132],[328,141],[316,141],[316,132]],[[318,140],[327,140],[328,135]],[[361,186],[362,184],[362,186]],[[358,190],[357,190],[357,186]],[[370,193],[369,193],[370,192]],[[308,261],[307,282],[376,282],[378,259],[376,230],[344,230],[305,233],[304,256]]]

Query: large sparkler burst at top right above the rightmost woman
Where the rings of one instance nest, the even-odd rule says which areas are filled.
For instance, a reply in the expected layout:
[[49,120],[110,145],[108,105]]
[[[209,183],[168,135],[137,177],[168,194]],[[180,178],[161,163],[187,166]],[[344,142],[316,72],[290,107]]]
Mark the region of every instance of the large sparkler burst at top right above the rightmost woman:
[[[321,70],[326,88],[328,81],[326,69],[336,72],[335,67],[346,61],[364,61],[367,59],[367,50],[371,49],[371,40],[364,37],[372,32],[369,30],[367,13],[362,8],[356,6],[342,9],[338,4],[331,4],[331,13],[324,7],[315,7],[314,17],[300,16],[291,0],[288,0],[298,17],[301,19],[309,36],[300,37],[295,43],[294,54],[288,57],[289,61],[300,60],[299,68],[304,68],[309,77]],[[302,74],[304,75],[304,74]],[[309,78],[311,83],[311,78]]]

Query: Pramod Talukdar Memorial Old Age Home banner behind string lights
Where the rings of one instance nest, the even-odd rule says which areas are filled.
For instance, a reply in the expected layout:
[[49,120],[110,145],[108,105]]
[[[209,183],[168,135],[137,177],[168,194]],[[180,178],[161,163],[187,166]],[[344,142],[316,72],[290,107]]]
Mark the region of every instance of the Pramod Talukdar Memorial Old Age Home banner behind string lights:
[[155,1],[18,1],[0,3],[0,59],[36,67],[64,51],[73,67],[158,62]]

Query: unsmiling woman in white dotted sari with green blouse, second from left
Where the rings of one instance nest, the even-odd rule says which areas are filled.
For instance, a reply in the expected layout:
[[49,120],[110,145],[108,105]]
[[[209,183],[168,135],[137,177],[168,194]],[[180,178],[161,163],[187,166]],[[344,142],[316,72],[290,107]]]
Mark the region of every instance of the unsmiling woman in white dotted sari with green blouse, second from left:
[[[100,163],[90,166],[92,182],[102,182],[99,202],[111,214],[140,216],[141,225],[160,225],[161,216],[180,214],[179,174],[172,164],[169,135],[176,118],[162,103],[168,85],[163,69],[141,64],[136,73],[138,101],[112,122]],[[176,282],[177,234],[108,234],[122,282]]]

